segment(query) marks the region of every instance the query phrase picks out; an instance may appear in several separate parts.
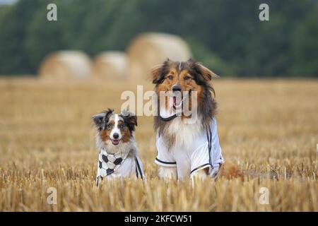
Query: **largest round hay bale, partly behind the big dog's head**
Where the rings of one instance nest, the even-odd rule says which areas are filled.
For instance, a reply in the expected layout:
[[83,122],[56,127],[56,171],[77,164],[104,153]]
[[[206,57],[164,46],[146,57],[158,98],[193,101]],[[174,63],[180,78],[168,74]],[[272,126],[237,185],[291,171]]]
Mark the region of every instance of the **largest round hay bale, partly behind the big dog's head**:
[[130,78],[147,78],[153,66],[169,58],[186,61],[191,57],[187,43],[181,37],[165,33],[146,33],[136,37],[127,49]]

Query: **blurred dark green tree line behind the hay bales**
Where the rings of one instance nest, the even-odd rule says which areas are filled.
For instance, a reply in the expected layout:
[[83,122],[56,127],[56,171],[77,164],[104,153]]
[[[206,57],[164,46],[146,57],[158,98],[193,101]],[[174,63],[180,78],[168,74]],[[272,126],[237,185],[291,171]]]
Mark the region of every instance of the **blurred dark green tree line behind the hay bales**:
[[[269,21],[259,20],[262,3]],[[93,57],[140,32],[169,32],[221,76],[318,77],[317,22],[317,0],[20,0],[0,7],[0,74],[36,74],[59,49]]]

